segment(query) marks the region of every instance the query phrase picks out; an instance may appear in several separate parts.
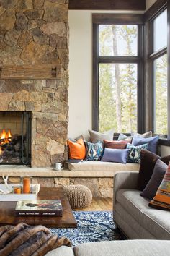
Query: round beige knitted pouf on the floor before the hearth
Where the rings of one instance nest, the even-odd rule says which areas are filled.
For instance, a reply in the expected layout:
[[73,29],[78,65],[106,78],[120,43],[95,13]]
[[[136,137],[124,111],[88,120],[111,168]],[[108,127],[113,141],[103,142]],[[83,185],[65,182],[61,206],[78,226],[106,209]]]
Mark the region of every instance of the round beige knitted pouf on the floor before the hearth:
[[71,208],[84,208],[91,204],[92,194],[88,187],[83,185],[64,186]]

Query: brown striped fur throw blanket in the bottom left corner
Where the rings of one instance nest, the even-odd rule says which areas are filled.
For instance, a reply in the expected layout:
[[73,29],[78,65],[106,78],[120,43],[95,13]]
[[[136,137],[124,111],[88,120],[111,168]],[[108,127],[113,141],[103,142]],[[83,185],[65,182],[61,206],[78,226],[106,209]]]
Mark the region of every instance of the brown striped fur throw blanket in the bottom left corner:
[[61,245],[71,247],[71,242],[66,237],[51,234],[45,226],[19,223],[0,227],[1,256],[42,256]]

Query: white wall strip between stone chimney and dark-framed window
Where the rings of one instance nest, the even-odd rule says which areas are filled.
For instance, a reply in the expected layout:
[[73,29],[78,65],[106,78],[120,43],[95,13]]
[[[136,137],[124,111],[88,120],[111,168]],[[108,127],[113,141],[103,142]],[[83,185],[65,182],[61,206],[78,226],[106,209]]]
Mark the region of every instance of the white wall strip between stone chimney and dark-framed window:
[[94,12],[99,11],[71,10],[68,15],[70,27],[68,137],[84,135],[86,138],[88,129],[92,127],[92,13]]

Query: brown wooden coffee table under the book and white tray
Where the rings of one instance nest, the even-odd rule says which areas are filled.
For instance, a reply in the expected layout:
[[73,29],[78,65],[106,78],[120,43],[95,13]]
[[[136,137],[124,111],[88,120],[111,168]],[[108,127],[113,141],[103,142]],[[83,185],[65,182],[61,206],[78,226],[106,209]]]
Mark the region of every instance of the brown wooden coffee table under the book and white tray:
[[63,206],[63,217],[16,217],[15,207],[17,202],[0,202],[0,226],[16,225],[24,222],[31,226],[43,225],[48,228],[76,228],[76,219],[73,216],[71,206],[64,195],[63,188],[40,188],[38,200],[60,199]]

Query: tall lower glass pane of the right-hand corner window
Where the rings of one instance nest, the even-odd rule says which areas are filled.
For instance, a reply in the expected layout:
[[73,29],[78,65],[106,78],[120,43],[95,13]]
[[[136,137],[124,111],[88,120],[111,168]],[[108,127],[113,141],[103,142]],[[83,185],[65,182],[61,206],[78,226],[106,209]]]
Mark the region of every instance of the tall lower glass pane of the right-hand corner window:
[[167,135],[167,55],[154,61],[155,132]]

